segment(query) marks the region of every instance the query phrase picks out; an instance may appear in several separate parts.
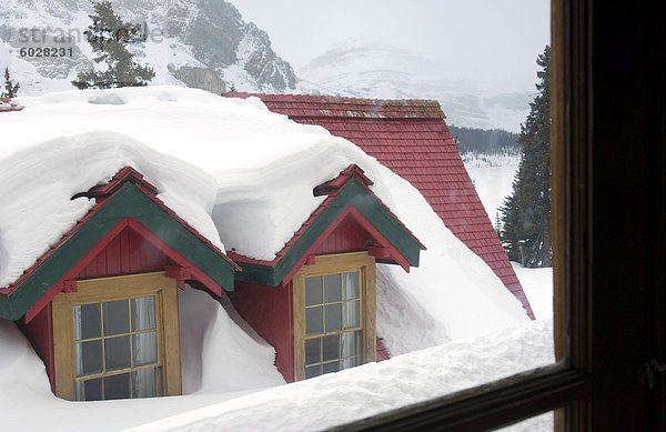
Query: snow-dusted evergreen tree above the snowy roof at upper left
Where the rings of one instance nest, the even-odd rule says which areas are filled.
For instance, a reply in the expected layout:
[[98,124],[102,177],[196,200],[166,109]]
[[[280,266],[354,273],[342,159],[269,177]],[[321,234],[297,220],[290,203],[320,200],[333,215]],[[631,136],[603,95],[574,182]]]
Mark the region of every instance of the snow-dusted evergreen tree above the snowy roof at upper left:
[[113,13],[110,1],[94,2],[93,7],[92,24],[83,33],[97,54],[94,62],[104,62],[107,70],[80,72],[72,84],[79,89],[147,86],[155,72],[137,63],[134,54],[128,51],[128,46],[144,42],[141,24],[124,22]]

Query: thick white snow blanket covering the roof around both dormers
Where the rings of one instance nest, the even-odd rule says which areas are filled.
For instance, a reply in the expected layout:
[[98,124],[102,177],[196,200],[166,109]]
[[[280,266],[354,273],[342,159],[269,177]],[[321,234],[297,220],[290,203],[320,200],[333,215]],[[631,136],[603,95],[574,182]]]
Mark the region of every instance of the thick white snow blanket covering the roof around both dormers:
[[[17,102],[22,111],[0,115],[0,287],[89,212],[93,201],[71,200],[74,194],[125,165],[218,248],[270,261],[325,200],[313,188],[355,163],[373,180],[372,192],[428,248],[411,274],[377,268],[377,330],[392,353],[526,320],[408,182],[353,143],[272,113],[255,98],[149,87]],[[408,324],[392,320],[395,313]],[[410,325],[433,330],[410,333]]]

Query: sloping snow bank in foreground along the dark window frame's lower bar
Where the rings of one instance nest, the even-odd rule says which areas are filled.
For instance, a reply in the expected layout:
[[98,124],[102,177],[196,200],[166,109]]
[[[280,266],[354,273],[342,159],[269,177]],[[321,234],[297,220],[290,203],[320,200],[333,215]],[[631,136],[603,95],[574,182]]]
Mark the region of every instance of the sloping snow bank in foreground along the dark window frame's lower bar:
[[[324,430],[549,364],[552,332],[552,322],[535,321],[265,390],[131,431]],[[531,428],[552,430],[551,418],[542,416]]]

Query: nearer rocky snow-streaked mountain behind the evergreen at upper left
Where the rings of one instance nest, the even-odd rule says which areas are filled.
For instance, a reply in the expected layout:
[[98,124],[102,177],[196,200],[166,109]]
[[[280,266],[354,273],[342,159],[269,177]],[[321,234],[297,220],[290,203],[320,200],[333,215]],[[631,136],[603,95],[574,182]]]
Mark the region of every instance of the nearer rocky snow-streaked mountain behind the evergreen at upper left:
[[[154,69],[152,84],[296,89],[292,67],[273,51],[268,33],[243,21],[229,2],[114,0],[113,8],[123,20],[142,24],[147,41],[138,60]],[[90,13],[89,0],[2,0],[0,67],[9,67],[21,94],[72,89],[77,73],[92,67],[94,54],[83,34]],[[37,57],[44,48],[64,56]]]

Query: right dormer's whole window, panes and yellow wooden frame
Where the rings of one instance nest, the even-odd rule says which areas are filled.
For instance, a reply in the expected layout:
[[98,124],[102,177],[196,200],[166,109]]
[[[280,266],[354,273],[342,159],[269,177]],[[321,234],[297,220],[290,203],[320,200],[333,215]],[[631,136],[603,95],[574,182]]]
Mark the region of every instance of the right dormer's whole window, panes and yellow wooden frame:
[[375,361],[374,265],[366,252],[321,255],[294,277],[296,380]]

